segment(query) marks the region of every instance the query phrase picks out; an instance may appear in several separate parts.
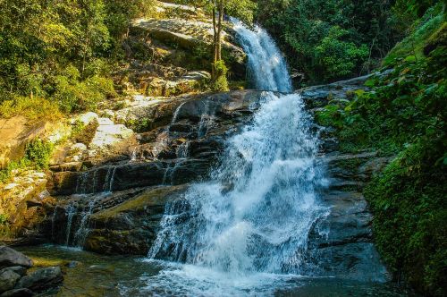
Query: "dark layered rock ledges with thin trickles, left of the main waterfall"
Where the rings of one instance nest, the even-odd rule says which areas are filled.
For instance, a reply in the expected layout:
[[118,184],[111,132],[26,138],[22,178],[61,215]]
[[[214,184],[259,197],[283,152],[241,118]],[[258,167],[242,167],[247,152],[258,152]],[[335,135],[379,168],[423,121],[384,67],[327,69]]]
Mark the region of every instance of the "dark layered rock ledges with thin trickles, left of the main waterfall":
[[97,252],[146,254],[166,202],[207,178],[224,140],[249,121],[261,98],[261,91],[233,91],[117,112],[146,125],[121,150],[51,168],[47,188],[58,203],[47,236]]

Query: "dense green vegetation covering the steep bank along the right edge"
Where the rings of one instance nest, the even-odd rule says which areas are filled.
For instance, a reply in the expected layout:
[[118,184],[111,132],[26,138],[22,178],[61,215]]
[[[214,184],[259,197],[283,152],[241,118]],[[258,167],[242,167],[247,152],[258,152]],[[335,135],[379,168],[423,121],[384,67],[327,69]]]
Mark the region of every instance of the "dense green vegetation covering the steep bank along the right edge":
[[[365,191],[377,247],[397,280],[442,296],[447,284],[447,23],[443,5],[426,9],[384,59],[392,72],[367,81],[350,102],[317,114],[342,149],[393,158]],[[416,13],[416,12],[415,12]],[[417,10],[420,13],[420,10]]]

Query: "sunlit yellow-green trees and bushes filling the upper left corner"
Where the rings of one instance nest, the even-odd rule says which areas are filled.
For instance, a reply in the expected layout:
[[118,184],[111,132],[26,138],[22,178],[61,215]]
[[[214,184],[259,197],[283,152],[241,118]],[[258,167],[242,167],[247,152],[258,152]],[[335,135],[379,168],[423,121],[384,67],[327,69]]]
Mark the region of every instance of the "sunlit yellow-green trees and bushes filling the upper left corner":
[[0,2],[0,115],[54,119],[115,96],[110,72],[122,40],[151,8],[147,0]]

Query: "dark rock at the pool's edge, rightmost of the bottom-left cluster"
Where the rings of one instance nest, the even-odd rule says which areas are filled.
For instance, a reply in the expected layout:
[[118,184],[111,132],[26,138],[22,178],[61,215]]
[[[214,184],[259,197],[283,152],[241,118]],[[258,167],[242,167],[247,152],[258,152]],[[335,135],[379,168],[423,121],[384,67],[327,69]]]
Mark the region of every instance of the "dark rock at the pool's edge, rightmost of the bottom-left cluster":
[[16,288],[27,288],[34,292],[41,292],[62,282],[63,275],[60,267],[46,267],[36,270],[29,276],[23,276],[16,284]]

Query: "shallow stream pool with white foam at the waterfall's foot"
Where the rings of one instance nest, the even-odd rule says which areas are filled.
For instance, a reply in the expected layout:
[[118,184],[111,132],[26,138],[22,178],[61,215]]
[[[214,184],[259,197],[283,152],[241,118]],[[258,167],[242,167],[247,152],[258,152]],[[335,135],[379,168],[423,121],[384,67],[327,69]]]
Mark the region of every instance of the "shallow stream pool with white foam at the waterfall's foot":
[[63,267],[63,287],[46,294],[51,296],[413,296],[394,284],[273,274],[224,276],[223,281],[223,275],[213,271],[198,275],[198,267],[147,258],[104,256],[54,245],[17,250],[36,265]]

